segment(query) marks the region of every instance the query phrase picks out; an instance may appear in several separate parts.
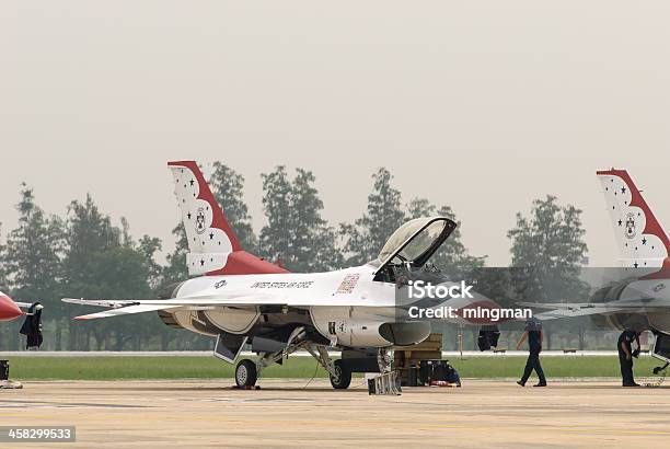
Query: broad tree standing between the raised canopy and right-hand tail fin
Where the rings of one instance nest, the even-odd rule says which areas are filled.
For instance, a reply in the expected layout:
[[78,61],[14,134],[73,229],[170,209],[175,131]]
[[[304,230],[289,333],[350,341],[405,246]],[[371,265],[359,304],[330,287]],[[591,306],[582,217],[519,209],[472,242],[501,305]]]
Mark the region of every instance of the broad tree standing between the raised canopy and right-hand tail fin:
[[[507,237],[512,241],[511,273],[519,299],[543,302],[588,296],[588,286],[579,279],[588,250],[580,215],[551,195],[533,202],[529,218],[517,214],[517,226]],[[550,331],[545,329],[547,348]]]

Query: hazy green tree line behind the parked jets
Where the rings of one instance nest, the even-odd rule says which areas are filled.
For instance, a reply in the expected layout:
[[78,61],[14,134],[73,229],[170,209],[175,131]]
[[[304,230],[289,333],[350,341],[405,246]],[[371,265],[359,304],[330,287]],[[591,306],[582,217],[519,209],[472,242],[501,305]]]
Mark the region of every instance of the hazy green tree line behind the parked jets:
[[[243,199],[243,175],[221,162],[215,162],[212,169],[210,187],[242,246],[291,272],[322,272],[371,261],[391,233],[413,218],[439,215],[458,222],[449,205],[436,205],[420,197],[405,202],[393,186],[391,172],[381,168],[371,176],[371,192],[360,217],[354,222],[333,225],[322,217],[324,204],[314,174],[305,169],[291,173],[279,165],[261,175],[266,225],[256,233]],[[125,218],[115,225],[91,195],[72,200],[63,217],[47,216],[33,188],[24,183],[15,207],[16,228],[0,234],[0,289],[15,300],[38,300],[45,304],[44,348],[211,348],[210,338],[169,329],[154,313],[76,322],[72,316],[89,309],[60,301],[72,296],[154,298],[164,286],[188,278],[188,246],[181,223],[172,231],[175,249],[161,264],[157,262],[163,245],[160,239],[135,238]],[[543,300],[556,287],[566,291],[584,289],[577,280],[587,254],[580,214],[574,206],[562,206],[551,195],[534,200],[530,215],[517,214],[517,223],[507,237],[511,265],[525,274],[520,283],[513,279],[513,273],[519,270],[486,269],[487,256],[470,254],[461,241],[460,228],[430,262],[449,276],[476,277],[478,291],[493,293],[492,299]],[[0,326],[1,350],[21,347],[19,325]],[[444,332],[452,334],[453,326],[447,326]],[[450,342],[446,341],[448,348]]]

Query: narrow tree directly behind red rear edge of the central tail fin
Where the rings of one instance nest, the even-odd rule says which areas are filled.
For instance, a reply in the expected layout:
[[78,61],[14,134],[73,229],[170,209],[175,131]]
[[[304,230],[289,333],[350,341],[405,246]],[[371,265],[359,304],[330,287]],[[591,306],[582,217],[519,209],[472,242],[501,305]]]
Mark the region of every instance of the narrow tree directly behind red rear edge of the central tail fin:
[[228,222],[232,227],[245,251],[254,253],[258,241],[254,234],[251,216],[244,203],[244,176],[221,162],[213,163],[215,171],[209,179],[209,186],[223,209]]

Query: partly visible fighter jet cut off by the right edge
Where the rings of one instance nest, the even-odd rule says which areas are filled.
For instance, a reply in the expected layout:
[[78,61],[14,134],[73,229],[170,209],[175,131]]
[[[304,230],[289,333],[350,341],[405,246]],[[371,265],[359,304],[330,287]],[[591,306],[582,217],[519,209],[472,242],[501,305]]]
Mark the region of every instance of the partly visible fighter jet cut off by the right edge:
[[542,320],[590,316],[604,329],[651,331],[654,355],[670,361],[670,240],[625,170],[597,172],[621,253],[590,302],[520,304],[548,311]]

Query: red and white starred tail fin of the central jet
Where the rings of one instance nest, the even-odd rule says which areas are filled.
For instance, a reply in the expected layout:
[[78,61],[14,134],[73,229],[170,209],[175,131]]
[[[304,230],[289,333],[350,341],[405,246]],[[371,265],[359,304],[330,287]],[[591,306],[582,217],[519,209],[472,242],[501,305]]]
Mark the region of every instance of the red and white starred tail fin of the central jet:
[[190,275],[286,273],[242,250],[195,161],[169,162],[168,166],[188,239]]

